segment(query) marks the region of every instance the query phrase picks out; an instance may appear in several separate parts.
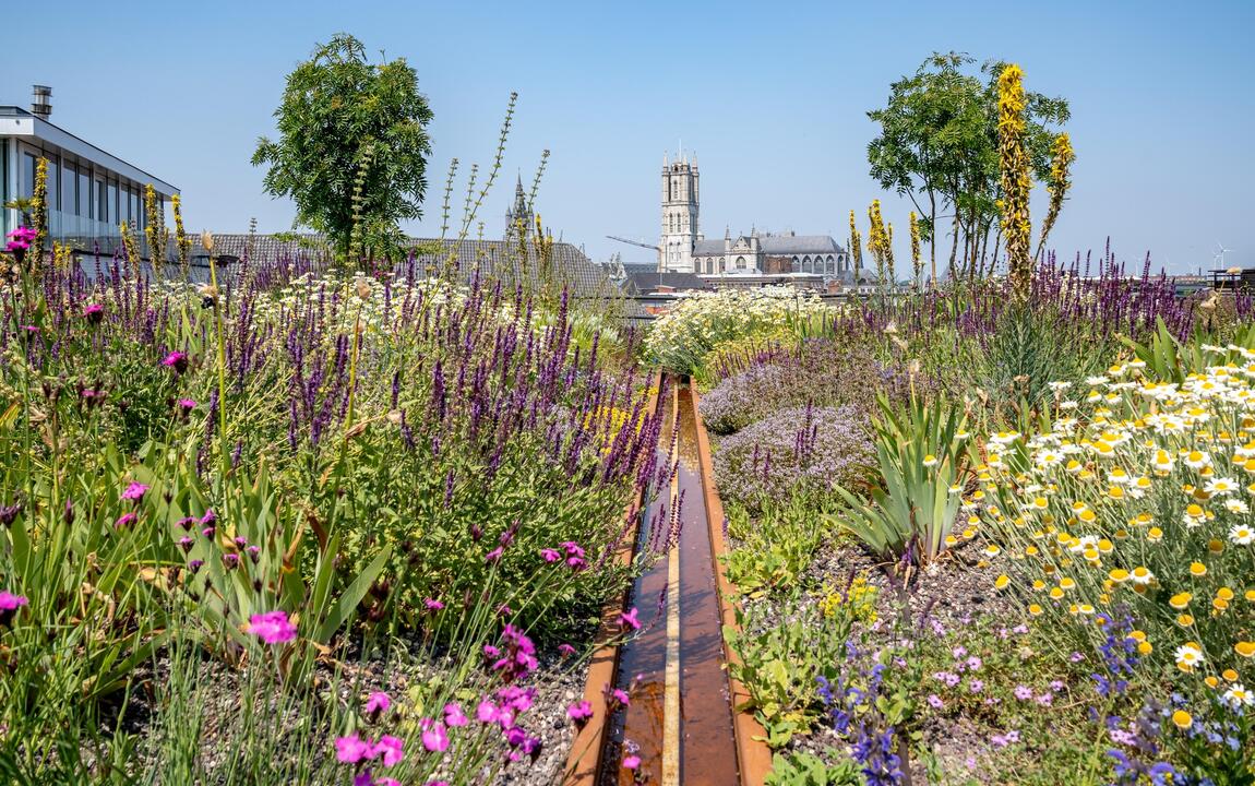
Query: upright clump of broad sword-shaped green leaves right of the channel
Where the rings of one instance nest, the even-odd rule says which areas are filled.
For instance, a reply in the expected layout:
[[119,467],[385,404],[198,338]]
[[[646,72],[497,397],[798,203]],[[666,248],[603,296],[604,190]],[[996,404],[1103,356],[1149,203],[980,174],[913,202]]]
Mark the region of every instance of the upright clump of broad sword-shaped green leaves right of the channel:
[[836,491],[847,509],[836,516],[873,554],[899,560],[910,550],[915,560],[934,559],[959,514],[960,495],[951,486],[963,477],[965,456],[959,450],[966,417],[944,402],[912,401],[905,413],[884,397],[876,431],[880,478],[870,500]]

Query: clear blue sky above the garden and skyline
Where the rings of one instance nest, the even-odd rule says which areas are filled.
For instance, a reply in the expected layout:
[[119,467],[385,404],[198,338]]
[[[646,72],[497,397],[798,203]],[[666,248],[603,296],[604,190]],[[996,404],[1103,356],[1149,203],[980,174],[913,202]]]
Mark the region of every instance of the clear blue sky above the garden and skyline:
[[[40,6],[26,4],[28,11]],[[594,259],[650,252],[663,154],[702,171],[702,229],[792,229],[845,242],[886,200],[905,259],[909,206],[867,176],[868,109],[934,50],[1019,63],[1072,102],[1074,190],[1052,236],[1183,272],[1255,266],[1255,0],[1136,3],[53,3],[0,46],[0,103],[54,88],[53,122],[182,188],[190,227],[289,229],[248,158],[284,78],[336,31],[403,55],[435,113],[424,218],[437,234],[451,158],[483,170],[520,93],[482,218],[499,236],[515,177],[552,151],[537,206]],[[13,23],[14,20],[10,20]],[[462,176],[459,181],[464,182]],[[1035,195],[1040,221],[1044,198]]]

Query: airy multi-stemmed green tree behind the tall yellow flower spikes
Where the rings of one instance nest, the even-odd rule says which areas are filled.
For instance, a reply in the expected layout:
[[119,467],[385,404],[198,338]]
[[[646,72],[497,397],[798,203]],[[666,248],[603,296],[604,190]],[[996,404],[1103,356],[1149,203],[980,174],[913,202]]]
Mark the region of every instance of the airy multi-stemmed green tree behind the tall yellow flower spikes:
[[[951,223],[951,274],[970,275],[980,272],[998,221],[998,74],[1005,64],[989,60],[978,70],[974,63],[963,53],[934,53],[890,85],[882,109],[867,113],[881,129],[867,146],[871,176],[922,213],[920,235],[930,244],[934,276],[939,217]],[[1068,102],[1032,92],[1025,100],[1032,172],[1049,181],[1052,127],[1068,121]]]

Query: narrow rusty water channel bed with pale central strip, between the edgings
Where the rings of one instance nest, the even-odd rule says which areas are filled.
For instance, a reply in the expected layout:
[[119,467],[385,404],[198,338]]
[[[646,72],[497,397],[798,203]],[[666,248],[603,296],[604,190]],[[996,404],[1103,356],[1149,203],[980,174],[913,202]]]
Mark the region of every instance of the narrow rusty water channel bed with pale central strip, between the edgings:
[[[674,472],[654,490],[638,539],[638,551],[661,542],[665,555],[633,590],[641,632],[620,649],[615,681],[631,703],[610,721],[600,783],[733,786],[742,780],[707,517],[713,491],[703,482],[694,398],[683,383],[670,393],[660,402],[660,463],[670,458]],[[628,755],[640,758],[635,772],[622,766]]]

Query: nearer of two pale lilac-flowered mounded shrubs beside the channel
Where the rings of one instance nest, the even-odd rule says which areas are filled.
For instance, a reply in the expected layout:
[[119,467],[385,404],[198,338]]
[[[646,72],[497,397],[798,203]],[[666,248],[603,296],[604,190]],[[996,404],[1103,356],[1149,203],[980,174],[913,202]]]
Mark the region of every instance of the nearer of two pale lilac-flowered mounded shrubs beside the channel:
[[719,493],[759,510],[794,492],[831,492],[872,457],[863,422],[852,406],[781,409],[719,442]]

